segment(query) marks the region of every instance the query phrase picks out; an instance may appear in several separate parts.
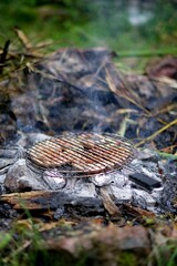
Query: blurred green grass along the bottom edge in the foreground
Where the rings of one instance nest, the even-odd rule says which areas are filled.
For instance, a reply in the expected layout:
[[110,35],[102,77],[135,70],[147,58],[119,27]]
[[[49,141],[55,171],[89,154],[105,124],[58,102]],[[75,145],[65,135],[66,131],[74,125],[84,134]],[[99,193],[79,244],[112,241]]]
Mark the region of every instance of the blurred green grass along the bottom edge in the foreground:
[[[28,214],[28,212],[25,213]],[[64,224],[62,223],[58,224],[58,231],[60,232],[60,235],[63,225]],[[177,265],[177,243],[176,241],[170,241],[166,237],[164,237],[164,244],[162,245],[154,242],[154,247],[149,256],[146,256],[142,252],[137,250],[112,250],[112,248],[107,248],[104,243],[93,243],[92,248],[81,249],[77,256],[74,256],[72,253],[70,254],[69,252],[64,250],[64,248],[62,249],[60,247],[49,250],[45,246],[44,236],[41,233],[41,226],[45,225],[40,224],[39,219],[33,219],[30,215],[30,217],[23,219],[22,223],[14,222],[9,232],[0,232],[0,265],[97,266],[101,264],[110,265],[113,262],[115,262],[118,266]],[[66,232],[66,229],[63,231],[65,234]],[[71,228],[70,233],[72,233]],[[48,233],[45,232],[45,239],[52,241],[52,235],[53,233],[51,234],[49,229]],[[74,229],[72,235],[74,236]],[[158,237],[157,235],[156,237]],[[77,248],[80,248],[80,246]],[[104,264],[103,262],[107,262],[107,264]]]

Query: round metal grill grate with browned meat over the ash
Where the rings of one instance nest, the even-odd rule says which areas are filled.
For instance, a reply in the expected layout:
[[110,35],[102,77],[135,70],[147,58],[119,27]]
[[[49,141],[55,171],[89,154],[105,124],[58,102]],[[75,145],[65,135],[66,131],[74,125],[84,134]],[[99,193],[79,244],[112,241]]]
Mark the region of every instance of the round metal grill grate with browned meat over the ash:
[[65,177],[86,177],[113,172],[134,157],[129,141],[116,134],[66,134],[39,142],[27,151],[33,170],[58,168]]

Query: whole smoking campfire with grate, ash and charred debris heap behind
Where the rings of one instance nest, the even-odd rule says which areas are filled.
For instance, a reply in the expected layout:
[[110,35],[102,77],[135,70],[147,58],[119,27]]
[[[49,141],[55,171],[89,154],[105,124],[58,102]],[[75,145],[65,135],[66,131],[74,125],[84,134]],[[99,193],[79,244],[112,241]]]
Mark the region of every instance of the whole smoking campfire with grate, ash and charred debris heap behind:
[[[176,213],[176,166],[157,153],[166,149],[164,140],[176,147],[173,86],[123,74],[100,48],[60,50],[21,75],[17,92],[3,84],[11,110],[4,140],[0,135],[2,201],[7,193],[31,192],[29,208],[37,207],[33,193],[43,193],[43,208],[70,203],[112,215],[129,204]],[[164,114],[167,104],[170,115]],[[146,140],[150,146],[143,146]]]

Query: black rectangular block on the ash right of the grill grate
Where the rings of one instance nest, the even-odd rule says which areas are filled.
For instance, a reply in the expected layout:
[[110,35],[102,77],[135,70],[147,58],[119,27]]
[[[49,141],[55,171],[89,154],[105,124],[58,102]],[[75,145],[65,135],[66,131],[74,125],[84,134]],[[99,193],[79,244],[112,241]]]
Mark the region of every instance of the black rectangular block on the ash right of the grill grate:
[[154,190],[162,186],[162,183],[148,175],[143,173],[134,173],[129,175],[129,178],[135,182],[137,185],[146,188],[146,190]]

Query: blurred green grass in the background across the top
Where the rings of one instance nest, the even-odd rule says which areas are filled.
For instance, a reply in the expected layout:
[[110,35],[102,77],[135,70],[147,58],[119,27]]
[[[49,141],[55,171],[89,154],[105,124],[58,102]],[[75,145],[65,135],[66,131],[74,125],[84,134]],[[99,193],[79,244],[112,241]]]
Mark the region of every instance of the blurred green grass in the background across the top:
[[[143,50],[168,52],[177,43],[175,3],[156,0],[154,17],[134,27],[128,21],[127,1],[116,0],[1,0],[0,43],[13,39],[20,27],[33,42],[54,40],[56,47],[107,47],[124,55]],[[144,9],[143,9],[144,11]],[[143,12],[142,11],[142,12]]]

